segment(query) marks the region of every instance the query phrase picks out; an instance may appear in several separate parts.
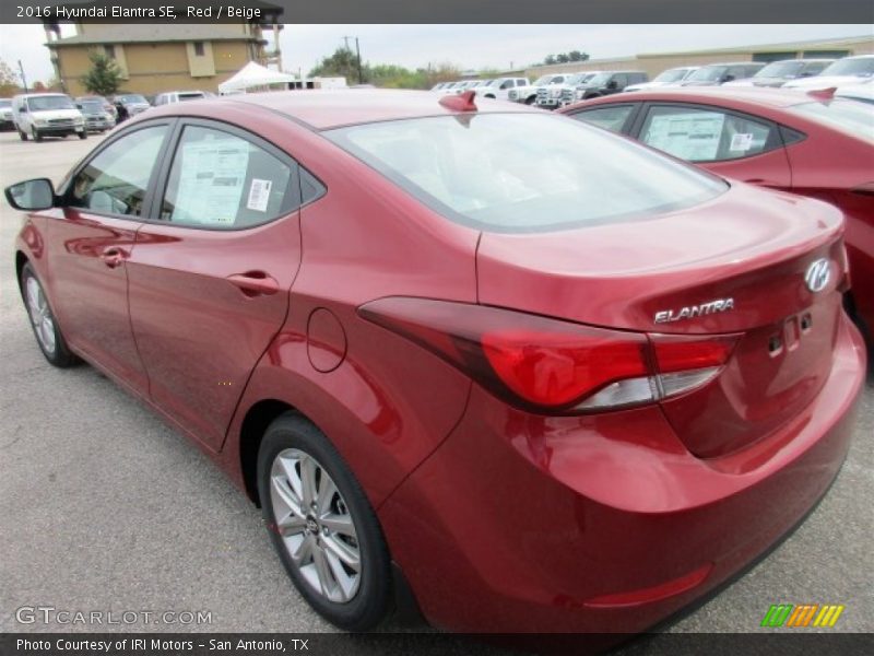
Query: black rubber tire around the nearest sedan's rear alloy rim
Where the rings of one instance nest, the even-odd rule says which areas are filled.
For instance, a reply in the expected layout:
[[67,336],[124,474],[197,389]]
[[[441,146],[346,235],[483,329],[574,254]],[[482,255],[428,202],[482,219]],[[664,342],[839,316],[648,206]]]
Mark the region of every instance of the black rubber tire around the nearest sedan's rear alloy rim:
[[[290,453],[288,449],[314,458],[328,473],[339,492],[335,499],[344,502],[354,523],[359,551],[359,582],[357,590],[345,602],[332,601],[315,589],[294,564],[280,535],[273,512],[271,471],[277,456]],[[309,605],[329,622],[346,631],[369,631],[377,626],[390,610],[392,590],[391,560],[382,529],[349,466],[321,431],[304,417],[288,412],[268,427],[258,453],[258,492],[273,547],[295,587]],[[319,540],[321,536],[312,539]]]

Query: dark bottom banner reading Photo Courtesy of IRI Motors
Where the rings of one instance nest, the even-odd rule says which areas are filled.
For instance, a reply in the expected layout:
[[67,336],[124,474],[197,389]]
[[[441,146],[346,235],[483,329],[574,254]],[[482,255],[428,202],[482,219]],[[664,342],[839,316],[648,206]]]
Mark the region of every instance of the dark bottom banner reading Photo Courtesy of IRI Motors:
[[848,656],[874,653],[870,633],[662,633],[631,636],[453,635],[446,633],[3,633],[3,656],[459,656],[595,654],[622,656]]

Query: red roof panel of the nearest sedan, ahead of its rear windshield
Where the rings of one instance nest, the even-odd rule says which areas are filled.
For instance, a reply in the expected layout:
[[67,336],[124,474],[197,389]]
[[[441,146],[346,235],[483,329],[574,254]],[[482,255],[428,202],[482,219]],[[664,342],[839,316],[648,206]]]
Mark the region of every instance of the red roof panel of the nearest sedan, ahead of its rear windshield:
[[[298,90],[264,93],[250,93],[234,95],[224,98],[197,101],[197,106],[202,110],[215,108],[215,115],[221,115],[221,108],[226,103],[245,103],[264,107],[279,114],[306,124],[316,130],[327,130],[341,126],[376,122],[380,120],[397,120],[406,118],[421,118],[426,116],[458,116],[440,104],[445,97],[428,91],[398,91],[387,89],[352,89],[352,90]],[[149,116],[160,114],[179,114],[185,112],[181,107],[169,105],[150,109]],[[497,101],[477,101],[477,114],[541,114],[542,109],[520,105],[517,103],[500,103]]]

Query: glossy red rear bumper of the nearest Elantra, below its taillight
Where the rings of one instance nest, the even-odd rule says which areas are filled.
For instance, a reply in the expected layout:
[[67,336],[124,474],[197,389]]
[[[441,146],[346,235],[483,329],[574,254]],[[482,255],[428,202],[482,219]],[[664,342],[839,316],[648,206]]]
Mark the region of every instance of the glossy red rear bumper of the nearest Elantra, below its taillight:
[[839,332],[818,397],[712,460],[658,408],[536,417],[474,386],[452,434],[379,508],[425,617],[462,632],[633,633],[737,573],[843,462],[865,353],[846,318]]

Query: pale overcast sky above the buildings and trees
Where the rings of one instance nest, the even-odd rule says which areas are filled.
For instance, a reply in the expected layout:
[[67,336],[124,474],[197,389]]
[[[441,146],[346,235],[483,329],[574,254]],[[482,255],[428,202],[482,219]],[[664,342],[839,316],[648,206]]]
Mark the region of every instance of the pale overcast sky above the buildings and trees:
[[[871,34],[870,25],[286,25],[286,71],[306,73],[358,36],[362,58],[408,68],[450,62],[461,69],[524,67],[546,55],[582,50],[593,58]],[[271,37],[272,38],[272,37]],[[40,25],[0,25],[0,58],[28,82],[51,78]]]

